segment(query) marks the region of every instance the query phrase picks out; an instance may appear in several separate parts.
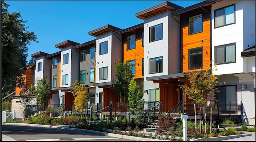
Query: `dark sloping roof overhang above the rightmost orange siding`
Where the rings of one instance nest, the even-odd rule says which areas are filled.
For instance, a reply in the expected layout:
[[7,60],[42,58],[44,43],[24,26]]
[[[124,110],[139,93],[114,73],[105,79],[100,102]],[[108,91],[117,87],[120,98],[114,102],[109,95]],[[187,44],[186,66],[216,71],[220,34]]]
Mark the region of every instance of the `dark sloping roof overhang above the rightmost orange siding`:
[[197,8],[201,8],[203,6],[210,6],[211,4],[214,4],[218,1],[220,1],[220,0],[206,0],[206,1],[200,2],[198,4],[188,6],[186,8],[175,10],[174,12],[172,12],[172,16],[176,16],[176,15],[180,15],[180,14],[183,14],[183,13],[186,13],[186,12],[190,12],[192,10],[196,10]]

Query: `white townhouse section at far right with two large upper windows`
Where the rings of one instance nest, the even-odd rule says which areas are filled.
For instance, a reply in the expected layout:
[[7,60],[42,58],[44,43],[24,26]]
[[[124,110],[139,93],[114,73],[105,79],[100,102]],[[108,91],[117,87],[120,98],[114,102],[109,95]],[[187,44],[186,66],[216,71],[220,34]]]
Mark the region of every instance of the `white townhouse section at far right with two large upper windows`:
[[216,99],[221,110],[242,114],[244,123],[253,124],[255,55],[243,54],[255,46],[255,1],[219,1],[211,15],[212,59],[218,68],[212,73],[226,82]]

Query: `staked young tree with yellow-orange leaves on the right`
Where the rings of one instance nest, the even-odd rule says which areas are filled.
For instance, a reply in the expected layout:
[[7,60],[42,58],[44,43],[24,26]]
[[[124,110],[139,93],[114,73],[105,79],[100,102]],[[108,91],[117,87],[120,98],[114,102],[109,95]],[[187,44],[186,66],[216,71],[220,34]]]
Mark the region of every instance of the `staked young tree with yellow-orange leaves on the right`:
[[[214,97],[217,88],[217,75],[211,74],[212,69],[187,72],[186,76],[190,82],[190,86],[181,85],[182,90],[189,99],[194,103],[195,122],[196,122],[196,105],[206,107],[207,97]],[[196,123],[195,123],[196,125]],[[197,128],[196,128],[197,129]],[[197,130],[196,130],[197,132]]]

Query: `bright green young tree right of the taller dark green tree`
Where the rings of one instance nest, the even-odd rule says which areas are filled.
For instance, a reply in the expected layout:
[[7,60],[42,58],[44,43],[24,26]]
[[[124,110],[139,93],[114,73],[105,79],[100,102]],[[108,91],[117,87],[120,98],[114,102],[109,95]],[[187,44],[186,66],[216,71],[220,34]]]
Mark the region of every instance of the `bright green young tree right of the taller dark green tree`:
[[144,105],[143,93],[140,93],[139,86],[135,80],[132,80],[129,85],[128,104],[129,112],[132,115],[141,114]]

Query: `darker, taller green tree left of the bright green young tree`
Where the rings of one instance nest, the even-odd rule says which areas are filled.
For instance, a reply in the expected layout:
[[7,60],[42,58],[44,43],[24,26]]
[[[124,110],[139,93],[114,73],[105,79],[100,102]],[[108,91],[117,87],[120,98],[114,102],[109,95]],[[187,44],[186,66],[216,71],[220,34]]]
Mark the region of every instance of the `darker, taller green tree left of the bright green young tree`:
[[113,89],[116,97],[120,97],[124,103],[124,99],[128,99],[129,84],[134,77],[132,73],[132,65],[130,62],[117,61],[114,70],[114,78],[112,84],[114,84]]

